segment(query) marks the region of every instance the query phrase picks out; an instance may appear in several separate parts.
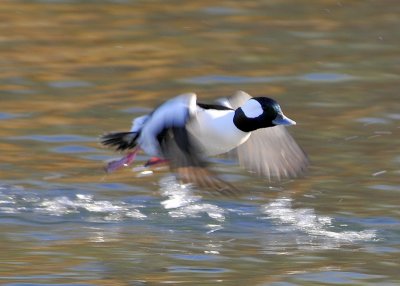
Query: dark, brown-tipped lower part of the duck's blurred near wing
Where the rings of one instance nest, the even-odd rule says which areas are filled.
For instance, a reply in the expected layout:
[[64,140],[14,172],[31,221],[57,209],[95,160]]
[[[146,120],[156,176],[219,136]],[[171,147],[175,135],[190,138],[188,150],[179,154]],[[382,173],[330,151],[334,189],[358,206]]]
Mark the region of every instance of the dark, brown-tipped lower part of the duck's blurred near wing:
[[177,172],[178,178],[184,183],[193,183],[223,195],[238,192],[233,185],[221,180],[207,168],[195,139],[188,134],[186,128],[173,127],[166,130],[160,145],[171,169]]

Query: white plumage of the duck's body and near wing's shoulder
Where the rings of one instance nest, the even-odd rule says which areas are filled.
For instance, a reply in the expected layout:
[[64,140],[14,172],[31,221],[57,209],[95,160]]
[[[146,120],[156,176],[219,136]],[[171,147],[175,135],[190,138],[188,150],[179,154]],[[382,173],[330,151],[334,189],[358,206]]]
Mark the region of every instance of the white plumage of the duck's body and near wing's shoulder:
[[138,144],[150,156],[162,156],[157,135],[173,126],[185,126],[206,156],[226,153],[244,143],[249,132],[233,123],[234,110],[203,109],[196,95],[187,93],[166,101],[150,115],[133,121],[132,132],[140,130]]

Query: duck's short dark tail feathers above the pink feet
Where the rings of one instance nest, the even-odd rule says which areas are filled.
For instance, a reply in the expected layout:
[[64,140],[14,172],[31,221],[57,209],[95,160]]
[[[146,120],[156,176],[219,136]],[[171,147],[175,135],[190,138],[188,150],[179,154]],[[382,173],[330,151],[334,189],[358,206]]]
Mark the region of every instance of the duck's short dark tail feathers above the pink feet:
[[104,146],[114,147],[117,151],[132,149],[137,145],[139,132],[112,132],[101,136]]

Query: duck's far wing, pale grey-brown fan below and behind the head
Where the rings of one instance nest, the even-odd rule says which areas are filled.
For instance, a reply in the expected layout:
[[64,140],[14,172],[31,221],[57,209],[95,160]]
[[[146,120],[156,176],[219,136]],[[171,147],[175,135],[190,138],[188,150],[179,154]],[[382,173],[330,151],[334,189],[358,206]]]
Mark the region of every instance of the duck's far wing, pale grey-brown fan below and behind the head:
[[[226,102],[236,109],[250,98],[249,94],[238,91]],[[235,151],[243,167],[268,179],[297,177],[309,164],[306,153],[284,126],[253,131]]]

